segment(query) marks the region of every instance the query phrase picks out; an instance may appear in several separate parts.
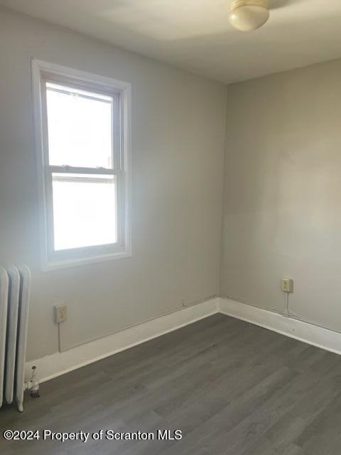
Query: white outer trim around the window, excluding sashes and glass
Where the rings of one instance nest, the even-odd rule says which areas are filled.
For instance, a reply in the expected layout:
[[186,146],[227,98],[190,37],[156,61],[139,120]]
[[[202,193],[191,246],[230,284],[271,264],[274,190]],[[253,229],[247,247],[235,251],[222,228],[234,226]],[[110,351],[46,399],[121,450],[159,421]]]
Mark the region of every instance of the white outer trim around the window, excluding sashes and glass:
[[[74,267],[94,262],[109,261],[131,256],[131,85],[128,82],[114,80],[110,77],[103,77],[86,73],[84,71],[67,68],[55,63],[47,63],[42,60],[32,58],[32,85],[33,85],[33,117],[34,117],[34,137],[36,149],[36,166],[38,174],[38,193],[39,193],[39,218],[40,218],[40,257],[43,271],[60,269],[64,267]],[[121,218],[124,220],[124,241],[115,251],[109,251],[105,245],[99,247],[79,248],[80,255],[75,256],[75,250],[63,255],[63,259],[51,259],[50,247],[48,243],[48,232],[50,232],[50,221],[47,211],[47,194],[45,182],[45,166],[47,151],[44,146],[43,113],[41,102],[41,81],[42,73],[52,73],[61,77],[72,78],[80,82],[87,82],[102,87],[104,91],[119,92],[121,102],[121,141],[124,176],[124,192],[118,207],[124,208]],[[74,168],[71,168],[74,169]],[[100,172],[102,173],[102,171]]]

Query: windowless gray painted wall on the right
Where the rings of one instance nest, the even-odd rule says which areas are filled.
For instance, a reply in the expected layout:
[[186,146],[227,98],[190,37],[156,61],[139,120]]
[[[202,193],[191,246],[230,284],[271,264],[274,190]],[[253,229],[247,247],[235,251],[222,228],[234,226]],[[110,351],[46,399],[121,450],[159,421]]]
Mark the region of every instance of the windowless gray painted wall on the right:
[[220,294],[341,330],[341,60],[227,92]]

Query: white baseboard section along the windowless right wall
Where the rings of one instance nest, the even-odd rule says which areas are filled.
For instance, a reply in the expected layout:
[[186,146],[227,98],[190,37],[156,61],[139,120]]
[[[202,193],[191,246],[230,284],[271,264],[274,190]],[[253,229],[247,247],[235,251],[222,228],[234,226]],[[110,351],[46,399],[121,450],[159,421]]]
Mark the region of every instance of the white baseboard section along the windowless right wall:
[[341,354],[341,333],[328,330],[328,328],[222,297],[218,299],[218,312],[268,328],[318,348],[330,350],[332,353]]

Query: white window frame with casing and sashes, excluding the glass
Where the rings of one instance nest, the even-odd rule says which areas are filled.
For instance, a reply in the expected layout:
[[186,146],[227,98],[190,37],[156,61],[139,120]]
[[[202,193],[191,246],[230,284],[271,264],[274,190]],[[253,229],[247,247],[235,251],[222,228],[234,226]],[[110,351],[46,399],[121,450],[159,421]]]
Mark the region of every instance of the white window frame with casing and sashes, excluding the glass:
[[[33,114],[40,208],[40,256],[43,270],[72,267],[131,256],[131,85],[65,66],[32,59]],[[89,92],[119,98],[119,147],[113,152],[113,169],[50,166],[48,163],[45,82],[62,83]],[[52,173],[98,173],[117,179],[118,242],[111,245],[53,248]]]

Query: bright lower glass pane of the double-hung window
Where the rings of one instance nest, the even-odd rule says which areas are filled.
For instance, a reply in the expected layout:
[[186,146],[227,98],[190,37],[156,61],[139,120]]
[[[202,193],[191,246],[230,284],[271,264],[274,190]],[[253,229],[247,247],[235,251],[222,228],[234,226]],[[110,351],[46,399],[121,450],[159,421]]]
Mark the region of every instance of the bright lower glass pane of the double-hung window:
[[53,173],[55,250],[117,243],[115,176]]

